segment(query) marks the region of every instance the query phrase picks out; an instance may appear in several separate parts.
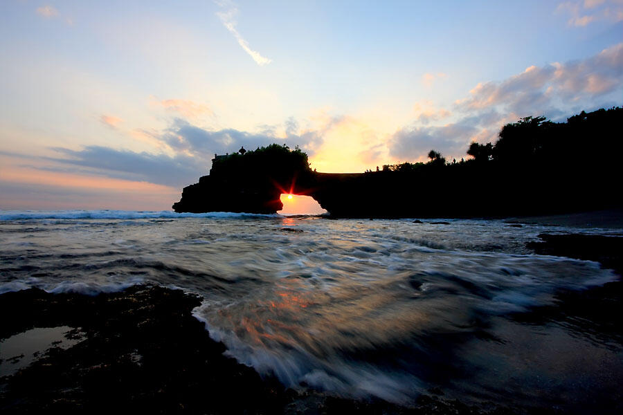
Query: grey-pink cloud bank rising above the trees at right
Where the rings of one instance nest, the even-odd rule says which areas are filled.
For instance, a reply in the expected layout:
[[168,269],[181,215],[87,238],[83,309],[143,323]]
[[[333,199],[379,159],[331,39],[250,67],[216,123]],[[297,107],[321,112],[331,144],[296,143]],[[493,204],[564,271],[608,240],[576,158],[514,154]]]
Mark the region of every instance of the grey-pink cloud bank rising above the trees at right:
[[[460,158],[472,140],[494,142],[508,122],[526,116],[563,120],[583,109],[621,104],[622,96],[623,43],[586,59],[529,66],[500,82],[480,82],[451,112],[417,102],[413,125],[393,133],[387,146],[399,160],[426,160],[431,149]],[[429,125],[444,118],[454,121]]]

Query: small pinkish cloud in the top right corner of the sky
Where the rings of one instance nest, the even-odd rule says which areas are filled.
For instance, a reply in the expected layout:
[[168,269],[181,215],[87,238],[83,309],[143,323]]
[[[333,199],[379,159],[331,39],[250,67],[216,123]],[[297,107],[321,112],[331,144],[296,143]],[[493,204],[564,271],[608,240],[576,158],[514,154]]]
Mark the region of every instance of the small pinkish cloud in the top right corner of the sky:
[[558,13],[568,15],[569,26],[584,27],[597,21],[617,22],[623,20],[621,0],[575,0],[559,3]]

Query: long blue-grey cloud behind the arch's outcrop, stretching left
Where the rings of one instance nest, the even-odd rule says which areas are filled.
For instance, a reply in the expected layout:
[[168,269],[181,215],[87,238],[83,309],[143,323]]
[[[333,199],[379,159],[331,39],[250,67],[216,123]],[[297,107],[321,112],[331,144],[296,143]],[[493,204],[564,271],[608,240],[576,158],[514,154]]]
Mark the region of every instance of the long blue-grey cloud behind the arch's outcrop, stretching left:
[[[110,122],[105,124],[111,125]],[[320,131],[301,131],[294,118],[287,120],[285,125],[285,136],[278,136],[274,131],[269,133],[249,133],[236,129],[213,131],[176,118],[163,131],[145,129],[132,131],[135,138],[150,142],[161,151],[167,151],[172,155],[137,153],[102,146],[87,146],[79,150],[55,147],[53,150],[60,156],[37,158],[53,162],[53,166],[32,168],[183,187],[195,183],[199,176],[208,173],[210,160],[214,154],[232,153],[242,146],[246,149],[255,149],[277,142],[286,143],[292,148],[298,145],[311,155],[322,143]],[[114,127],[114,123],[111,126]]]

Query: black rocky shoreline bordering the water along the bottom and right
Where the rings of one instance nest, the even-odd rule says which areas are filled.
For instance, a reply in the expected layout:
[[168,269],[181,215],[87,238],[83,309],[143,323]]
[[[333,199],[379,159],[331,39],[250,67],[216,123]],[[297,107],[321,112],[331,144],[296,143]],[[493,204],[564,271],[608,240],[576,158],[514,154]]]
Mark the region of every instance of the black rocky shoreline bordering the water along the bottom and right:
[[[599,261],[622,274],[623,237],[540,235],[530,244],[541,255]],[[560,306],[516,318],[565,320],[578,330],[623,344],[621,282],[560,293]],[[353,400],[312,390],[285,389],[223,355],[192,316],[200,299],[180,290],[133,286],[96,296],[51,294],[35,288],[0,295],[0,340],[43,327],[66,326],[71,348],[48,347],[30,365],[0,378],[3,413],[305,413],[527,414],[551,408],[505,403],[460,403],[431,390],[410,406]],[[10,317],[9,317],[10,316]],[[19,356],[15,357],[19,360]],[[535,404],[538,406],[538,404]],[[619,403],[620,405],[620,403]]]

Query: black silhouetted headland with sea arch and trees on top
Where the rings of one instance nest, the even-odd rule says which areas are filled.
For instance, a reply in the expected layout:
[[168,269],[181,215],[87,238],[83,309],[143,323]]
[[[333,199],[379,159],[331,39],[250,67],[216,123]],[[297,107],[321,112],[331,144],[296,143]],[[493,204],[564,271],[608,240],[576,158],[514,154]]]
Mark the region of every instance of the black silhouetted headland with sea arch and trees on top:
[[623,109],[580,113],[567,122],[527,117],[472,159],[385,165],[380,172],[316,173],[307,155],[271,145],[213,160],[209,176],[185,187],[176,212],[274,213],[280,194],[314,197],[337,217],[473,217],[620,208]]

